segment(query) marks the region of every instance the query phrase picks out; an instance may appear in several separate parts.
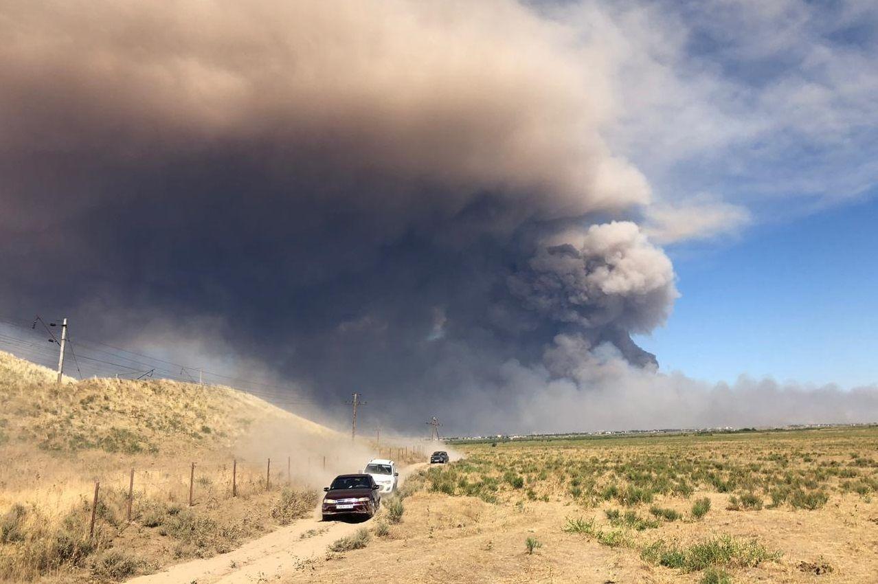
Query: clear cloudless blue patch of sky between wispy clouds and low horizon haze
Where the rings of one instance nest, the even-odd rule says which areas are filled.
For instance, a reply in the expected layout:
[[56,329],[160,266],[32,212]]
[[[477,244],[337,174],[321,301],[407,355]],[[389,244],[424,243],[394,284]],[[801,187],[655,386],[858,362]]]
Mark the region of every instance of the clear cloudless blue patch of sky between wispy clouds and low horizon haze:
[[668,249],[682,297],[639,337],[664,371],[853,387],[878,382],[878,199]]

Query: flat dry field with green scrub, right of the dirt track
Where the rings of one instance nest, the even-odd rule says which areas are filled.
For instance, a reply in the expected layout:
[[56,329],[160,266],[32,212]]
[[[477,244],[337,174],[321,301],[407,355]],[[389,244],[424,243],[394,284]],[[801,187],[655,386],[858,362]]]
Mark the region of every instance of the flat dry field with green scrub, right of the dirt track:
[[[459,446],[283,581],[875,582],[878,428]],[[345,546],[342,545],[342,548]]]

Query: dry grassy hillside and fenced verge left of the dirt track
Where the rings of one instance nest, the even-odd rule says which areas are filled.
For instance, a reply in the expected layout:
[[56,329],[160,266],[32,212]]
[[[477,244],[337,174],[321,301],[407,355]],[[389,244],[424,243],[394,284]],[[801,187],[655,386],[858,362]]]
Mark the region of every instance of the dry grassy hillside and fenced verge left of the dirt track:
[[119,581],[229,552],[310,516],[319,487],[372,454],[230,388],[58,386],[0,352],[0,581]]

